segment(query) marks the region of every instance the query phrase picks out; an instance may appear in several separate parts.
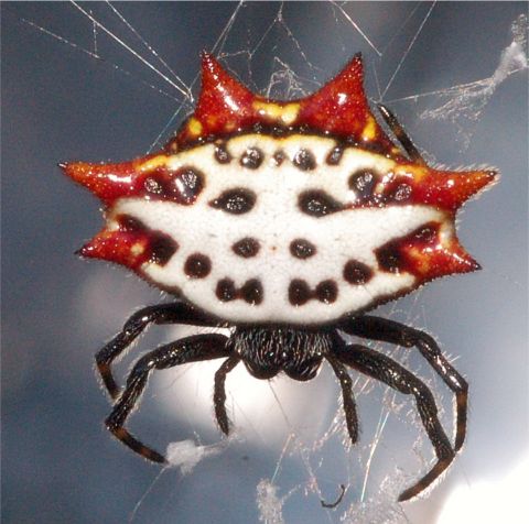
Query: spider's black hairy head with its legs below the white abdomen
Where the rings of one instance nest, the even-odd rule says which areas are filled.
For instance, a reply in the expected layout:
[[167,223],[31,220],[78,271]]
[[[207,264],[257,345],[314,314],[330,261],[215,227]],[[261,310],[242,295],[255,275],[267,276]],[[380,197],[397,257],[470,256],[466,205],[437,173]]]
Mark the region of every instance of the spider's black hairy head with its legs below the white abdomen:
[[[111,363],[123,354],[150,324],[228,327],[233,328],[233,332],[229,337],[218,334],[195,335],[159,347],[136,362],[120,393],[111,373]],[[346,343],[338,331],[404,348],[417,348],[455,394],[454,446],[441,426],[432,393],[420,379],[385,354],[365,346]],[[353,444],[358,438],[358,421],[347,367],[379,380],[400,393],[413,395],[422,425],[434,448],[436,462],[424,477],[400,494],[400,502],[428,488],[450,466],[465,439],[467,383],[441,353],[433,338],[422,331],[368,315],[352,316],[332,326],[314,328],[280,325],[241,327],[217,321],[182,302],[139,310],[97,353],[96,362],[102,382],[116,401],[106,419],[107,428],[137,454],[154,462],[166,462],[162,455],[143,445],[125,428],[127,417],[144,390],[150,372],[220,358],[225,361],[215,374],[214,406],[218,426],[226,435],[229,433],[229,419],[225,406],[225,382],[227,374],[240,361],[257,379],[271,379],[279,372],[284,372],[294,380],[306,381],[313,379],[322,361],[327,360],[342,387],[345,419]]]

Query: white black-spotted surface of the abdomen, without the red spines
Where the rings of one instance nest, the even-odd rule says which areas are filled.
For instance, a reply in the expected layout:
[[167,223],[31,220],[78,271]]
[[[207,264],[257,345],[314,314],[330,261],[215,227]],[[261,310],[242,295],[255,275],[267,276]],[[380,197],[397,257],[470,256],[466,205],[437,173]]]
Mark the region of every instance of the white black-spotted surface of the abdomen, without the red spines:
[[[353,173],[366,170],[392,176],[398,165],[355,146],[344,149],[339,161],[330,165],[327,157],[335,146],[334,140],[317,135],[245,134],[225,143],[228,163],[218,161],[213,143],[165,156],[169,170],[186,167],[202,174],[203,188],[196,200],[181,205],[120,198],[107,215],[108,229],[117,229],[117,217],[126,215],[171,237],[179,248],[170,260],[163,265],[144,262],[140,272],[216,317],[256,324],[330,323],[417,285],[412,273],[381,271],[377,249],[432,221],[442,226],[442,237],[453,236],[447,214],[433,206],[350,207],[357,198],[348,183]],[[241,159],[253,149],[261,163],[257,167],[241,165]],[[300,151],[315,161],[310,170],[295,161]],[[251,192],[256,196],[251,209],[231,214],[223,206],[212,206],[231,189]],[[299,204],[300,194],[307,190],[323,192],[344,209],[324,216],[307,214]],[[248,258],[237,254],[234,244],[241,239],[253,239],[258,252]],[[312,244],[310,256],[293,254],[291,244],[300,239]],[[199,259],[207,268],[198,276],[185,270],[190,258],[196,261],[197,254],[207,258]],[[348,262],[368,268],[369,274],[349,282],[344,273]]]

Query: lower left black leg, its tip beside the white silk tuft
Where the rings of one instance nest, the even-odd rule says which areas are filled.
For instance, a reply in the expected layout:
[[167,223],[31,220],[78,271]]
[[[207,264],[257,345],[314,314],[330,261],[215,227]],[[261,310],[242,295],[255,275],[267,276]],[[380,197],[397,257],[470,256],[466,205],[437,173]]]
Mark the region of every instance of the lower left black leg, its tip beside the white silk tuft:
[[105,421],[108,430],[132,451],[153,462],[165,462],[162,455],[140,443],[123,427],[123,424],[143,392],[149,373],[152,370],[229,357],[226,341],[227,337],[224,335],[195,335],[161,346],[139,359],[127,379],[123,392]]

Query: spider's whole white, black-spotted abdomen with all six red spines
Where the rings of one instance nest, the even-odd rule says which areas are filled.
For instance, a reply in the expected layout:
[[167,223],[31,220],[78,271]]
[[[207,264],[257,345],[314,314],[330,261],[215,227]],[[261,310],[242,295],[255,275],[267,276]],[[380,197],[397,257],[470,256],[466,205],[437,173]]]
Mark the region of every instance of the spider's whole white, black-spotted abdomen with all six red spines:
[[205,55],[195,112],[164,150],[64,165],[107,206],[79,252],[228,323],[327,325],[478,268],[454,219],[494,172],[435,170],[410,144],[407,157],[371,114],[359,56],[281,102]]

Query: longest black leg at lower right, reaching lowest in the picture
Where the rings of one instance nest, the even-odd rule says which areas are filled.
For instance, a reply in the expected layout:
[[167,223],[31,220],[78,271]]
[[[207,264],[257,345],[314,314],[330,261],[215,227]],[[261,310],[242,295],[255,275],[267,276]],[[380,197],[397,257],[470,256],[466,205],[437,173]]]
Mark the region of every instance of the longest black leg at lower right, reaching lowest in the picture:
[[377,379],[400,393],[415,397],[417,408],[422,425],[435,449],[438,461],[435,466],[412,487],[404,490],[399,502],[407,501],[428,488],[452,462],[455,451],[438,417],[438,407],[432,393],[427,385],[410,371],[385,354],[363,346],[337,346],[332,350],[343,363],[350,365],[360,373]]

